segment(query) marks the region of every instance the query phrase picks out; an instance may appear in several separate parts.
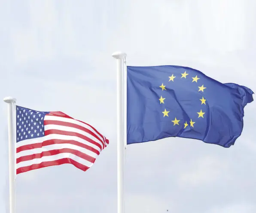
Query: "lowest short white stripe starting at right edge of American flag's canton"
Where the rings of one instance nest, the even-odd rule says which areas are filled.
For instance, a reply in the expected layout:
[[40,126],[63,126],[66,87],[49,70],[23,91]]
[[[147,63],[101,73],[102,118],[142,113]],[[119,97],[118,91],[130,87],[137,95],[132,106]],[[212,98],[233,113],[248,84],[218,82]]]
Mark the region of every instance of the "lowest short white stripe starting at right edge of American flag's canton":
[[69,126],[60,126],[60,125],[55,125],[55,124],[49,124],[44,126],[44,130],[50,130],[50,129],[56,129],[56,130],[62,130],[62,131],[67,131],[67,132],[75,132],[75,133],[79,133],[81,135],[84,135],[88,138],[90,138],[91,140],[97,142],[98,144],[101,145],[101,147],[103,148],[103,144],[101,141],[99,141],[97,138],[95,138],[93,135],[91,135],[88,132],[82,131],[80,129],[76,129],[74,127],[69,127]]

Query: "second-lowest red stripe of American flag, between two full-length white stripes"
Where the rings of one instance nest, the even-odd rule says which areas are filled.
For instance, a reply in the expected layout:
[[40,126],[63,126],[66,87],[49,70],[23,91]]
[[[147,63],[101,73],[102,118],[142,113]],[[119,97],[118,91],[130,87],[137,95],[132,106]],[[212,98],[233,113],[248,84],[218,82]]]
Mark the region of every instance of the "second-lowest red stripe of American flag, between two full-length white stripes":
[[82,153],[78,150],[73,150],[73,149],[69,149],[69,148],[63,148],[63,149],[58,149],[58,150],[49,150],[49,151],[43,151],[41,153],[37,153],[37,154],[32,154],[32,155],[27,155],[27,156],[21,156],[19,158],[16,159],[16,163],[22,162],[22,161],[27,161],[27,160],[33,160],[33,159],[37,159],[37,158],[42,158],[44,156],[52,156],[52,155],[57,155],[60,153],[72,153],[82,159],[85,159],[91,163],[94,163],[95,158]]

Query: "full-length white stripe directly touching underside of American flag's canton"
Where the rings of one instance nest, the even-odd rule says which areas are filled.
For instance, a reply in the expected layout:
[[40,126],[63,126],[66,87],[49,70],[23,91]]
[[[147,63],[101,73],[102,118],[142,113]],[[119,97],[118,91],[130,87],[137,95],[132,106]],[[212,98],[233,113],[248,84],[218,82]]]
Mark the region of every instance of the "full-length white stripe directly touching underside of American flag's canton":
[[76,137],[76,136],[70,136],[70,135],[58,135],[58,134],[50,134],[50,135],[46,135],[44,137],[41,137],[41,138],[31,138],[31,139],[27,139],[27,140],[24,140],[24,141],[20,141],[18,143],[16,143],[16,147],[22,147],[22,146],[25,146],[25,145],[29,145],[29,144],[37,144],[37,143],[43,143],[43,141],[47,141],[47,140],[52,140],[52,139],[60,139],[60,140],[70,140],[70,141],[77,141],[77,142],[80,142],[82,144],[85,144],[85,145],[88,145],[96,150],[98,150],[99,152],[101,151],[101,149],[94,145],[94,144],[91,144],[90,142],[82,139],[82,138],[79,138],[79,137]]

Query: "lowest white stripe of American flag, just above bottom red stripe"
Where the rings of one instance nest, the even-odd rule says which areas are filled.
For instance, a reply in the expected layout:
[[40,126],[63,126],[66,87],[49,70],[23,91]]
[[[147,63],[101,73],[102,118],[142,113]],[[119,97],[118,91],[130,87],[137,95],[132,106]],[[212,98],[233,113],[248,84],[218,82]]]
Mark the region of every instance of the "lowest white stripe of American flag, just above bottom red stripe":
[[30,165],[33,165],[33,164],[39,164],[39,163],[47,162],[47,161],[55,161],[55,160],[64,159],[64,158],[73,159],[74,161],[79,162],[82,165],[85,165],[87,167],[91,167],[93,165],[93,163],[91,163],[91,162],[89,162],[85,159],[79,158],[78,156],[73,155],[71,153],[60,153],[58,155],[44,156],[42,158],[37,158],[37,159],[33,159],[33,160],[19,162],[17,164],[17,169],[21,168],[21,167],[24,167],[24,166],[30,166]]

